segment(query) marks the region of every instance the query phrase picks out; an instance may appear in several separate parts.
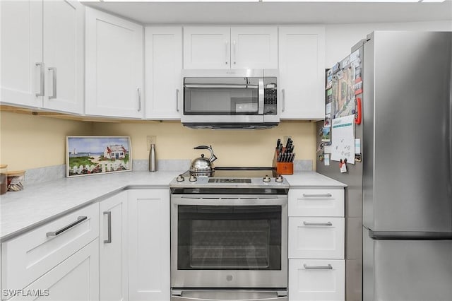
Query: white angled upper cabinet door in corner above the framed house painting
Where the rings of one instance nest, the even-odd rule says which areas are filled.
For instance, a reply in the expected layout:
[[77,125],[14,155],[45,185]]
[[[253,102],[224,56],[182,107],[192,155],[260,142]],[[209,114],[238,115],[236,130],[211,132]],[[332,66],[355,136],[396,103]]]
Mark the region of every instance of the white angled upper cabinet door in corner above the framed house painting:
[[86,114],[143,117],[143,27],[85,10]]

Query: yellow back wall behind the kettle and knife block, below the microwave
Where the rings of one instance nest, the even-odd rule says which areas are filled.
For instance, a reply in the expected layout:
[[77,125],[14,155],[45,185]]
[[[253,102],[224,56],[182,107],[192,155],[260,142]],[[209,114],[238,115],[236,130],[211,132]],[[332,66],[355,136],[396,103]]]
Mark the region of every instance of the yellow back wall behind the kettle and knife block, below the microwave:
[[273,129],[219,131],[188,129],[180,122],[95,123],[93,134],[131,136],[133,158],[148,158],[146,136],[157,136],[157,159],[194,159],[208,151],[196,151],[200,145],[212,145],[216,166],[270,166],[278,138],[292,136],[297,159],[315,162],[314,122],[281,122]]

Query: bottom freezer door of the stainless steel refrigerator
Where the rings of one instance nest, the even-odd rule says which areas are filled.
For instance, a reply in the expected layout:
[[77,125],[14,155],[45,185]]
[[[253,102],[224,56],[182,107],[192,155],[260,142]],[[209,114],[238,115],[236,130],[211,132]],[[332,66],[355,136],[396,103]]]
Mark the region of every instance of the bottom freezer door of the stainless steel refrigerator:
[[452,240],[375,240],[363,228],[363,266],[363,300],[451,300]]

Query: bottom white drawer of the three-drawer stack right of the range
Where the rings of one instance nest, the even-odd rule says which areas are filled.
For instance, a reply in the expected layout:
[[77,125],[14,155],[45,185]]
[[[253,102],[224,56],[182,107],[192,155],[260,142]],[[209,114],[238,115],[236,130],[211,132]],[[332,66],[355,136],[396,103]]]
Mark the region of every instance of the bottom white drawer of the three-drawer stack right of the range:
[[289,300],[345,300],[345,261],[290,259]]

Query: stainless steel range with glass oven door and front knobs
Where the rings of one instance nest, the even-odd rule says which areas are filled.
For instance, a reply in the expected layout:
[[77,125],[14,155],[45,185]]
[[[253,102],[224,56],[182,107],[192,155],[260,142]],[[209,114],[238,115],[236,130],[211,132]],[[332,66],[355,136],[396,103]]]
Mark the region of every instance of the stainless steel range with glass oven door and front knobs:
[[174,179],[171,300],[287,300],[287,193],[270,168]]

